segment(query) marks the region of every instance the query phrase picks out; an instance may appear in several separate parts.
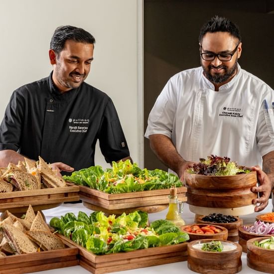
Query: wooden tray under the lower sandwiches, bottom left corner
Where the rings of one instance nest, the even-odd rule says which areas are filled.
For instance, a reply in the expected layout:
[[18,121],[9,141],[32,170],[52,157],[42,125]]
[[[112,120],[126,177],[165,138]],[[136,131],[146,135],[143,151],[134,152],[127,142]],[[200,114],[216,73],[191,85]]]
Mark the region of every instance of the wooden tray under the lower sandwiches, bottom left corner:
[[63,242],[65,249],[0,257],[0,273],[23,274],[79,265],[78,248]]

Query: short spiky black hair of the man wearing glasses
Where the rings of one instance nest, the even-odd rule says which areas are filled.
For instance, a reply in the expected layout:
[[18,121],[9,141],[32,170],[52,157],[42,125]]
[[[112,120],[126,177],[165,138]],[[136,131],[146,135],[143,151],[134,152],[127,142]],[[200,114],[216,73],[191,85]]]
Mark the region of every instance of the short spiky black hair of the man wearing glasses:
[[207,32],[229,32],[232,36],[242,41],[239,27],[231,20],[215,15],[209,21],[207,21],[200,30],[199,43],[202,43],[203,37]]

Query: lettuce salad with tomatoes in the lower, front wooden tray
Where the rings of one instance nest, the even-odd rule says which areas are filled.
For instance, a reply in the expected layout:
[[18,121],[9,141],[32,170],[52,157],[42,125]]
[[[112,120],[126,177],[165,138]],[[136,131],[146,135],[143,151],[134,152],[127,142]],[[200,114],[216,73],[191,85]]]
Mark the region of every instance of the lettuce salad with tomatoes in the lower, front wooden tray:
[[60,234],[70,238],[95,254],[128,252],[149,247],[179,244],[189,240],[187,233],[172,222],[157,220],[146,226],[147,213],[134,211],[105,216],[103,212],[93,212],[89,216],[79,211],[67,213],[61,218],[54,217],[50,226]]

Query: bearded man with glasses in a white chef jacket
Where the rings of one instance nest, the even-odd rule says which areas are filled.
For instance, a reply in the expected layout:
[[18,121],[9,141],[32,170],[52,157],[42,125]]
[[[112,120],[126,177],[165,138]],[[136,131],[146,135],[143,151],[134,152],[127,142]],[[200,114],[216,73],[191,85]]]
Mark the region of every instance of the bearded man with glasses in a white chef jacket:
[[181,179],[189,165],[210,154],[254,166],[260,186],[252,191],[261,197],[253,203],[261,211],[274,185],[274,91],[240,67],[240,31],[227,18],[206,22],[199,45],[201,67],[169,79],[149,114],[145,137]]

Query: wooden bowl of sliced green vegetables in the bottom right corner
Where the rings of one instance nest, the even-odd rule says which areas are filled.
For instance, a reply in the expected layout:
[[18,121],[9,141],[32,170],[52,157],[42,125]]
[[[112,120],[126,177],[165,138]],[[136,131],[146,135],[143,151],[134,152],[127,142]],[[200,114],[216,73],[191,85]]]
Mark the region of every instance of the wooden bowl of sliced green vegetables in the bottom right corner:
[[254,246],[255,241],[270,237],[257,237],[247,241],[247,265],[254,270],[274,273],[274,250]]

